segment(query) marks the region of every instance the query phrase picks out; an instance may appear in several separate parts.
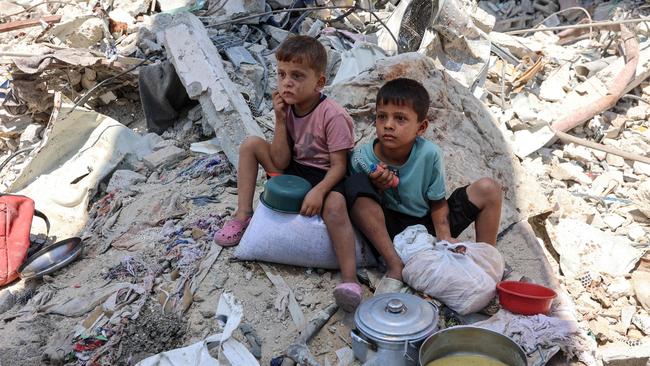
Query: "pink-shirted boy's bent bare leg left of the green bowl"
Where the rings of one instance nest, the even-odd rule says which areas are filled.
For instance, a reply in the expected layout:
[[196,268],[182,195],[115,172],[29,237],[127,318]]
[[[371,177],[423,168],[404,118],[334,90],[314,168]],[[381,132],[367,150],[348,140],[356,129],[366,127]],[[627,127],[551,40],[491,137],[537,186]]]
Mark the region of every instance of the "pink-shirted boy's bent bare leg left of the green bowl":
[[267,172],[280,172],[271,160],[271,145],[260,137],[251,136],[239,147],[237,211],[235,211],[235,218],[238,220],[245,220],[253,215],[253,195],[258,164],[262,165]]

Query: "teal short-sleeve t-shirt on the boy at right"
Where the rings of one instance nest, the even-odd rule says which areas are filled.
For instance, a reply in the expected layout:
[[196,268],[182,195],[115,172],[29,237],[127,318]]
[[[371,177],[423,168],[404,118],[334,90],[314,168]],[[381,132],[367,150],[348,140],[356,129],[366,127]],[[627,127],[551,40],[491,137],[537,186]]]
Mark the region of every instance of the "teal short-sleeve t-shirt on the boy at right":
[[[350,161],[352,173],[370,172],[372,164],[379,164],[373,145],[366,144],[356,149]],[[389,168],[399,176],[397,189],[384,191],[384,206],[393,211],[415,217],[429,213],[430,201],[445,198],[445,170],[442,150],[438,145],[418,137],[408,160],[402,166]]]

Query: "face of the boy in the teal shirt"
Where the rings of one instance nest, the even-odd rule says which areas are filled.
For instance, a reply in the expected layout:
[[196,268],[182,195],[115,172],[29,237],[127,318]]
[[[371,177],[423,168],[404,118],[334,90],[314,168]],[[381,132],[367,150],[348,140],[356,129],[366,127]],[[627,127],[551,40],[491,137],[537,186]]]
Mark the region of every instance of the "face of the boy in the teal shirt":
[[397,149],[412,144],[417,136],[422,136],[429,126],[426,119],[418,121],[418,115],[408,104],[392,103],[377,105],[375,127],[379,142],[389,148]]

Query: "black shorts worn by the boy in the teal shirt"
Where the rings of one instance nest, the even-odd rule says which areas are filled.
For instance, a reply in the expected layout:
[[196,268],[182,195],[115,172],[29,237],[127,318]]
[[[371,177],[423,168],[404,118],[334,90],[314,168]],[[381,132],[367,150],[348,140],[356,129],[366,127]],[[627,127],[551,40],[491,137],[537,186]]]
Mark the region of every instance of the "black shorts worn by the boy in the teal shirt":
[[[377,192],[366,174],[358,173],[350,176],[345,181],[345,199],[348,208],[354,205],[358,197],[371,198],[380,205],[382,196]],[[479,209],[475,204],[470,202],[467,197],[467,186],[456,189],[447,199],[449,205],[449,226],[451,236],[456,238],[463,232],[478,216]],[[431,215],[428,213],[423,217],[415,217],[401,212],[389,210],[382,205],[384,211],[384,220],[386,229],[391,240],[395,235],[401,233],[409,226],[424,225],[431,235],[436,235],[436,231],[431,221]]]

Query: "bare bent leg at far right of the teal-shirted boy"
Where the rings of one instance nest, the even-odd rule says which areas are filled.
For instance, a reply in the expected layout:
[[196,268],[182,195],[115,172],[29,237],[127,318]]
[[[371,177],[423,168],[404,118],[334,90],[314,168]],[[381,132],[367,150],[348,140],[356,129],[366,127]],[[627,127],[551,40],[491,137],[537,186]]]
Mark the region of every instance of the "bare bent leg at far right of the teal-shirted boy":
[[467,187],[467,198],[480,210],[474,222],[477,242],[496,245],[502,196],[501,185],[490,178],[481,178]]

